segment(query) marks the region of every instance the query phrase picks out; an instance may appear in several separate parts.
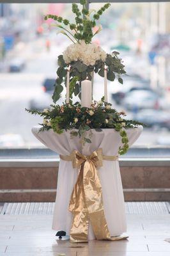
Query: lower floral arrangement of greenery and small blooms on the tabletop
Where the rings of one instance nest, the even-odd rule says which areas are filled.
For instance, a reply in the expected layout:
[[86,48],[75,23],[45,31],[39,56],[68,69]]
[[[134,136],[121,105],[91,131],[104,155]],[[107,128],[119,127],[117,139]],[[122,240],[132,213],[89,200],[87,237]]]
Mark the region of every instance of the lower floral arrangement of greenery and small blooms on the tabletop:
[[[126,128],[134,128],[141,125],[139,122],[125,119],[125,112],[118,113],[111,108],[111,104],[94,101],[91,108],[82,108],[79,102],[75,104],[51,105],[50,109],[43,111],[28,110],[29,113],[43,116],[43,124],[40,131],[53,129],[61,134],[65,130],[71,130],[71,137],[79,136],[81,143],[91,143],[91,136],[95,129],[101,132],[103,128],[112,128],[120,132],[122,146],[118,153],[123,155],[128,150],[128,138]],[[88,132],[89,131],[89,132]]]

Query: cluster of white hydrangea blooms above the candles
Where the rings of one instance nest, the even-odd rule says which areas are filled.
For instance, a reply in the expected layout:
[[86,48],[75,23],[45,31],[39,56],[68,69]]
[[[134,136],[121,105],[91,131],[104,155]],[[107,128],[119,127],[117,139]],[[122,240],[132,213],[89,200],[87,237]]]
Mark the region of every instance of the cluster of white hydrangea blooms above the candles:
[[66,64],[71,61],[81,60],[86,65],[95,65],[97,60],[105,61],[107,54],[97,44],[86,44],[84,40],[80,43],[69,45],[63,52],[63,59]]

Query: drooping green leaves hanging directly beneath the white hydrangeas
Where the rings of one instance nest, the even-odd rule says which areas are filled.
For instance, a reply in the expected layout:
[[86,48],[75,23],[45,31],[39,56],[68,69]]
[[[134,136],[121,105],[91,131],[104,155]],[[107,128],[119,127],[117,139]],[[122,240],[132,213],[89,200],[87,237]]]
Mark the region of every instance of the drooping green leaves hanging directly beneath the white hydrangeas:
[[[78,95],[81,92],[81,81],[88,79],[91,81],[92,79],[92,72],[98,73],[99,76],[104,77],[104,68],[107,68],[107,79],[109,81],[114,81],[114,79],[118,79],[118,81],[123,84],[123,79],[121,75],[125,74],[124,65],[121,62],[121,59],[118,58],[119,52],[112,52],[112,54],[107,54],[107,58],[105,61],[98,60],[96,61],[95,65],[85,65],[82,61],[72,61],[70,63],[70,98],[72,99],[72,95]],[[65,61],[63,60],[63,55],[58,56],[58,78],[56,79],[56,84],[54,87],[54,93],[52,95],[52,99],[54,103],[56,103],[63,92],[63,83],[66,81],[66,69],[68,66],[66,65]],[[76,79],[74,79],[76,77]],[[72,83],[73,80],[73,83]],[[76,83],[75,83],[76,80]],[[79,95],[81,96],[81,95]]]

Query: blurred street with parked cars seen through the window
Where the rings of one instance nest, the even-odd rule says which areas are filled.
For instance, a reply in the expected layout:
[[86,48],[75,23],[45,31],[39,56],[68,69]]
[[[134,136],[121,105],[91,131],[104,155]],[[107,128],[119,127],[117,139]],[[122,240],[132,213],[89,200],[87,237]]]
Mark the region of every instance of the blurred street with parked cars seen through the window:
[[[90,4],[98,9],[102,4]],[[0,4],[0,147],[42,147],[31,127],[42,123],[24,108],[48,108],[57,57],[71,42],[56,35],[47,13],[73,19],[71,4]],[[112,3],[94,38],[120,52],[128,76],[108,83],[109,102],[147,127],[135,146],[170,146],[170,3]],[[104,95],[95,75],[94,99]]]

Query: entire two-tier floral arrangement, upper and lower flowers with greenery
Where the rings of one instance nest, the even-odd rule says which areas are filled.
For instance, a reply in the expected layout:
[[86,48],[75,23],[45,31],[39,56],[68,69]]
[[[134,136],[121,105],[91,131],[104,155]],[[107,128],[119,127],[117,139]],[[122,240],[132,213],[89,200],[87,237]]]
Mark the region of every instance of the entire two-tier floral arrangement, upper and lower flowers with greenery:
[[[82,145],[91,143],[93,129],[98,132],[105,128],[114,129],[120,132],[122,145],[118,153],[122,155],[128,150],[128,137],[125,129],[137,127],[141,123],[127,120],[123,111],[118,113],[111,108],[111,104],[104,101],[106,98],[102,98],[100,102],[93,101],[89,108],[81,106],[79,102],[72,103],[73,95],[79,95],[81,98],[81,82],[87,78],[91,81],[94,72],[105,77],[106,80],[114,81],[118,78],[121,84],[123,84],[121,75],[126,73],[125,66],[118,58],[119,52],[107,54],[100,46],[91,42],[93,36],[100,32],[101,26],[98,26],[94,32],[93,28],[110,4],[104,4],[97,12],[86,8],[86,0],[81,0],[81,5],[82,10],[79,10],[77,4],[72,4],[75,24],[56,15],[45,16],[45,20],[53,19],[58,22],[54,26],[62,29],[60,32],[70,38],[73,44],[66,48],[63,55],[58,56],[58,78],[52,95],[54,104],[50,105],[50,109],[43,109],[43,111],[29,109],[26,111],[43,117],[40,131],[53,129],[54,132],[61,134],[69,129],[72,137],[80,137]],[[64,84],[67,89],[69,88],[68,96],[70,94],[70,97],[67,103],[59,106],[56,102],[60,98]]]

